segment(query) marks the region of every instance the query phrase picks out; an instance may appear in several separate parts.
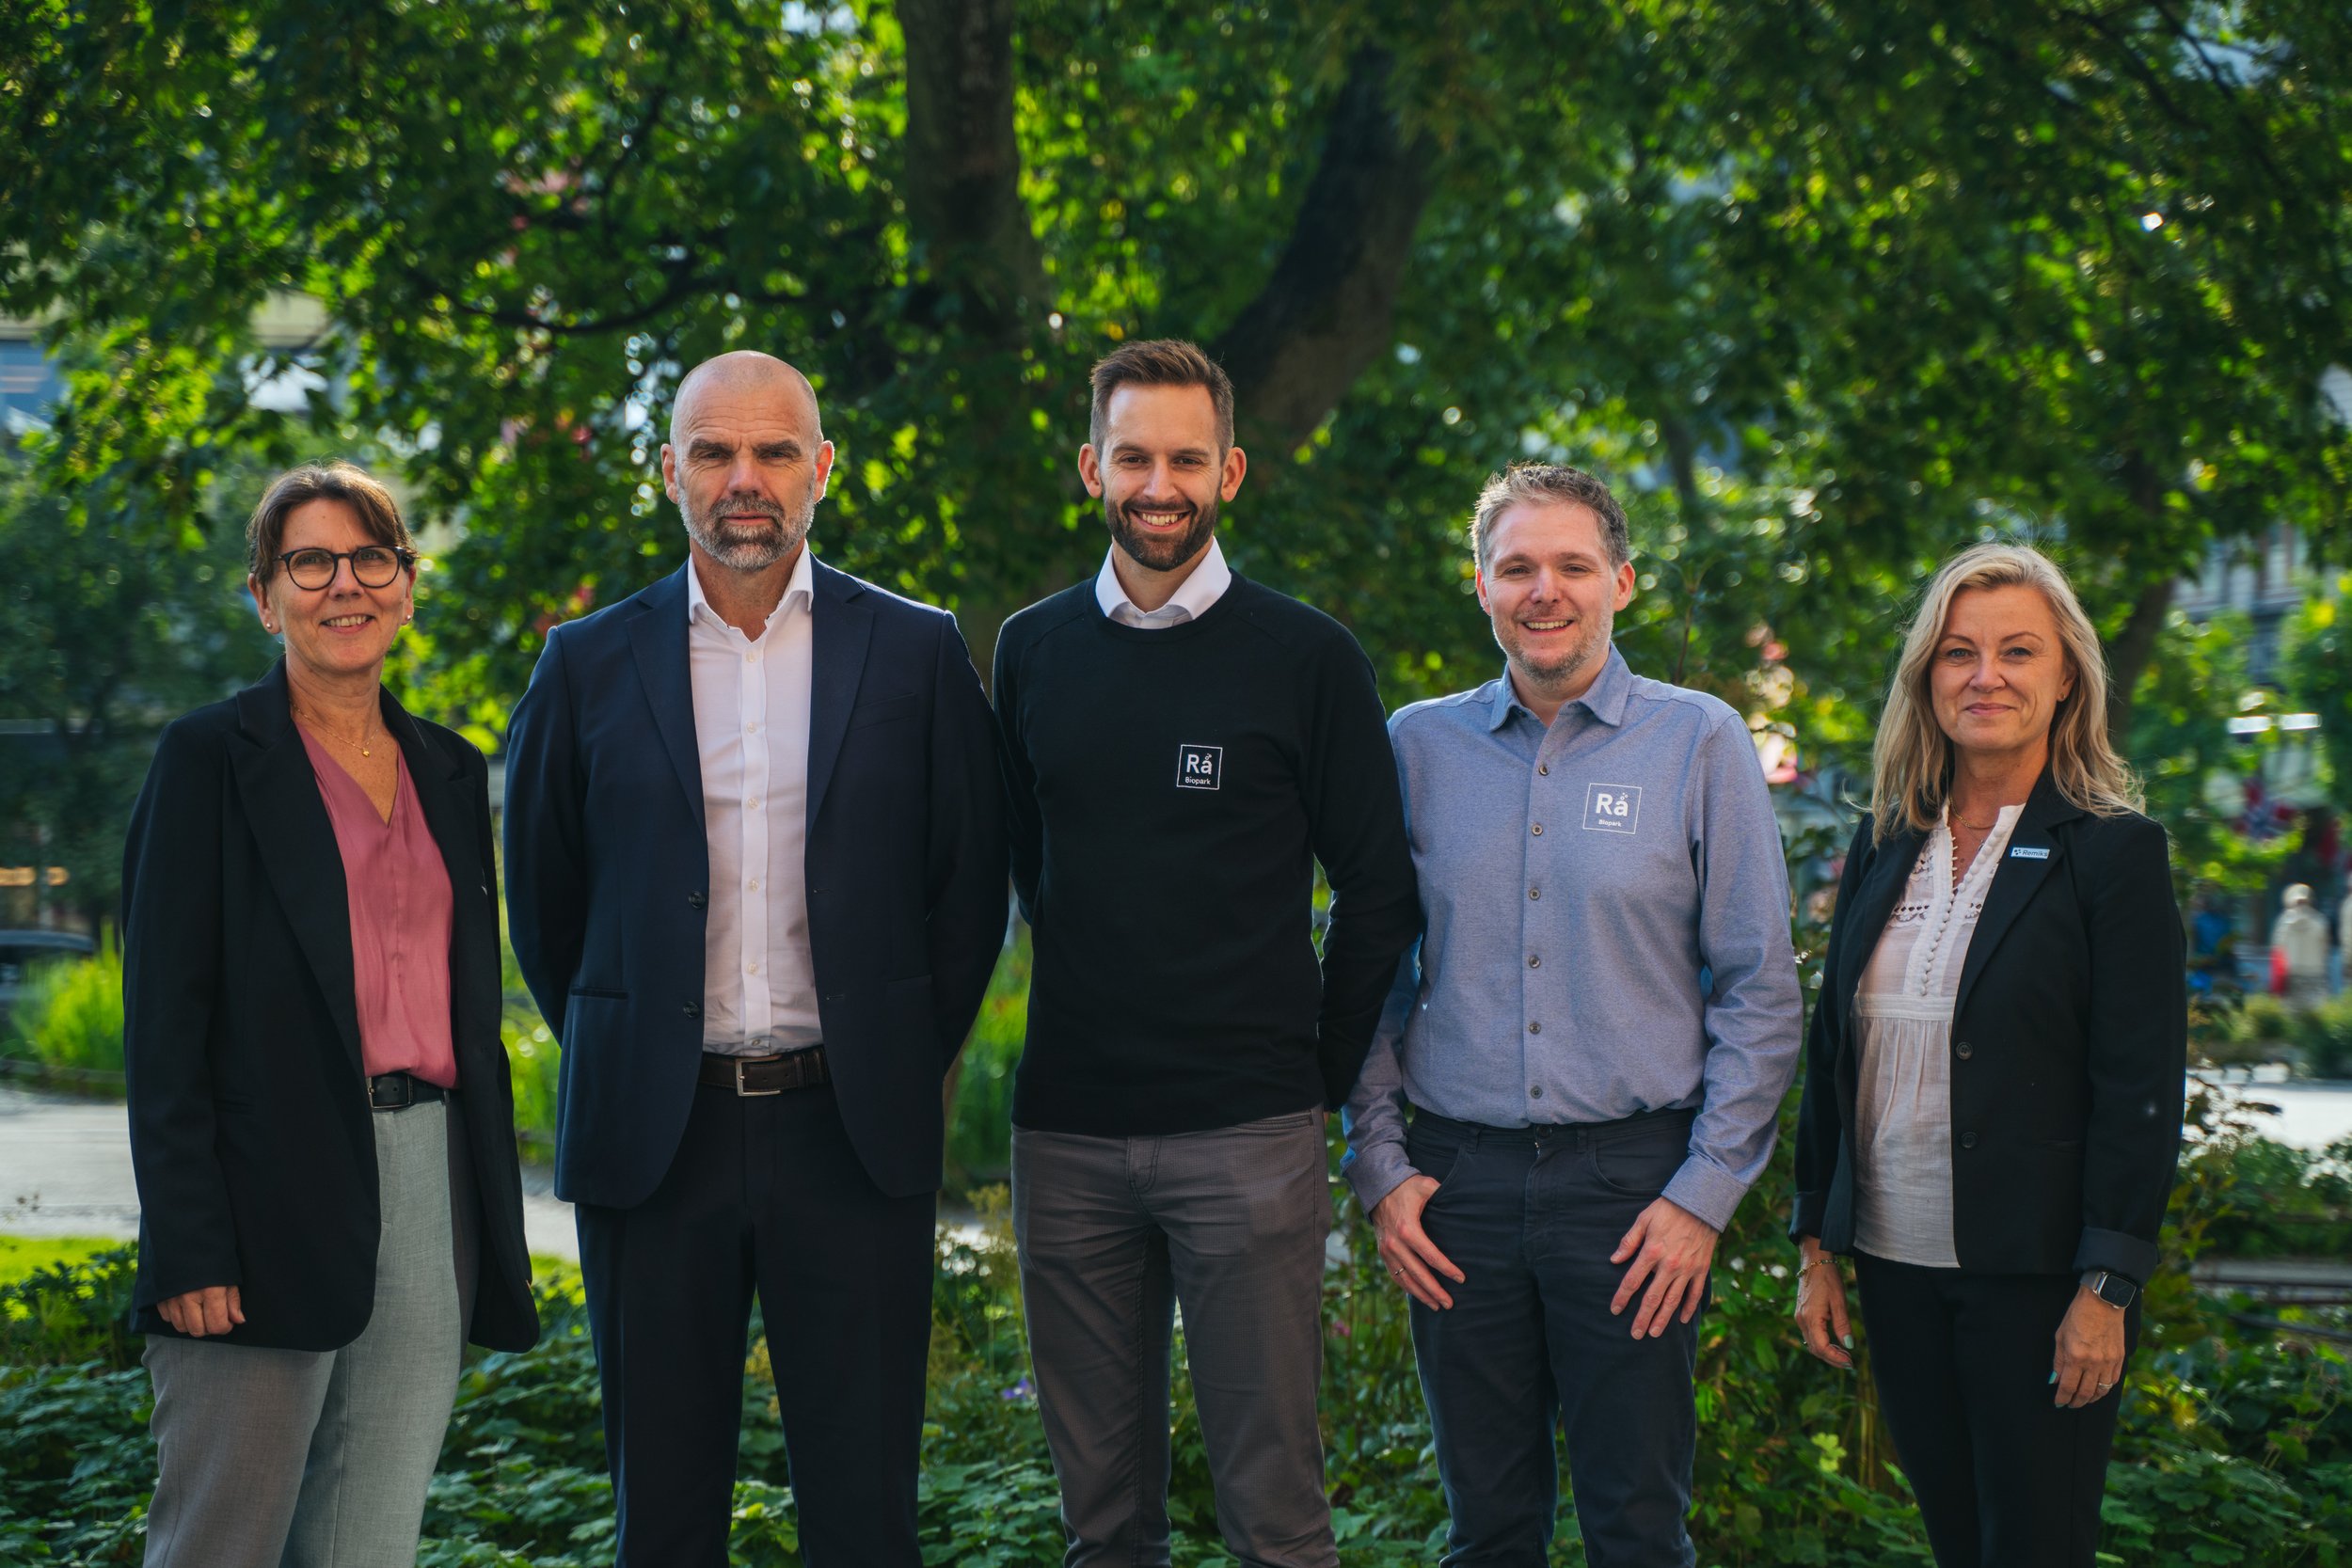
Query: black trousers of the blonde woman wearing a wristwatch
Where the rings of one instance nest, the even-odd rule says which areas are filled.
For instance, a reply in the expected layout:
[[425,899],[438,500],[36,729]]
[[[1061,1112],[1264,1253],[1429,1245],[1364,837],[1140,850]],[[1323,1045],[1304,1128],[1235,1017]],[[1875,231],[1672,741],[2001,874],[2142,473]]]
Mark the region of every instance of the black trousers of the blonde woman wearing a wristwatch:
[[[1940,1568],[2089,1568],[2122,1399],[2051,1387],[2074,1274],[1966,1274],[1858,1253],[1870,1375]],[[2140,1305],[2124,1319],[2140,1342]]]

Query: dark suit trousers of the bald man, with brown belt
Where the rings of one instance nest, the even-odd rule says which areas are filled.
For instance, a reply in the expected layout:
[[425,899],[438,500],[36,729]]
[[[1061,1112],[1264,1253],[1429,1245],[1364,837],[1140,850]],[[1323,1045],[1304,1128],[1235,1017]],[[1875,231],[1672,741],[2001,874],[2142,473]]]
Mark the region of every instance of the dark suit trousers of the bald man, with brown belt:
[[579,1206],[619,1568],[722,1568],[753,1291],[809,1568],[913,1568],[936,1194],[866,1178],[833,1088],[696,1088],[635,1208]]

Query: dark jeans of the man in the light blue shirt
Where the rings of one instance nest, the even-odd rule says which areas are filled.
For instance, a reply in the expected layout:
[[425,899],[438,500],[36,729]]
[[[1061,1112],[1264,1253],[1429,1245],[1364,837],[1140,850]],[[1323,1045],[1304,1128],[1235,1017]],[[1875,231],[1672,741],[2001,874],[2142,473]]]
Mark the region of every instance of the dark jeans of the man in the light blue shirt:
[[1609,1262],[1665,1192],[1691,1112],[1599,1126],[1491,1128],[1418,1114],[1404,1150],[1437,1180],[1421,1222],[1468,1276],[1454,1307],[1414,1305],[1414,1356],[1454,1530],[1446,1568],[1541,1568],[1559,1505],[1552,1427],[1569,1436],[1592,1568],[1689,1568],[1691,1361],[1698,1319],[1632,1338]]

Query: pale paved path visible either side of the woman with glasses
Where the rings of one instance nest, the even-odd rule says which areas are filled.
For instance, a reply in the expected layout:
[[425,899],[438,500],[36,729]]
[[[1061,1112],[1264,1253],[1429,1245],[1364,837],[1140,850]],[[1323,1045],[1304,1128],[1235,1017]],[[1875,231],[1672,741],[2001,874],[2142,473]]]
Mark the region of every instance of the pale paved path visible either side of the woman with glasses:
[[[522,1229],[534,1253],[579,1258],[572,1204],[553,1171],[522,1166]],[[0,1232],[136,1237],[129,1119],[106,1100],[0,1086]]]

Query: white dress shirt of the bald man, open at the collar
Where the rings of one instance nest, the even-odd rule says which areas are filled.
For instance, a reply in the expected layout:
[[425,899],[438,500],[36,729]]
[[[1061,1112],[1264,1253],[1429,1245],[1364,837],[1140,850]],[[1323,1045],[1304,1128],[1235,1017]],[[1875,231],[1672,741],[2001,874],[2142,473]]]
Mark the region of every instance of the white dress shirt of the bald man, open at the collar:
[[823,1039],[809,959],[809,677],[816,574],[800,550],[760,637],[727,625],[687,569],[687,663],[703,759],[710,910],[703,1048],[795,1051]]

